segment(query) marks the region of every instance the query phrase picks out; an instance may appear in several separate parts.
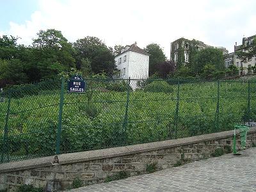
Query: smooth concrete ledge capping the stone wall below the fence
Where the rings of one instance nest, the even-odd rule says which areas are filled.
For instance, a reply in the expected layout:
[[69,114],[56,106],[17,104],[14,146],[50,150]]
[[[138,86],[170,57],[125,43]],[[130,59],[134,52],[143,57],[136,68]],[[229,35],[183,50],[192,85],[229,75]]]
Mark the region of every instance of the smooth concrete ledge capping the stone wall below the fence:
[[[256,127],[250,128],[248,134],[255,133]],[[238,132],[237,132],[238,133]],[[190,145],[209,140],[219,140],[230,138],[234,135],[234,131],[223,131],[211,134],[203,134],[188,138],[180,138],[177,140],[156,141],[152,143],[143,143],[138,145],[128,145],[125,147],[113,147],[100,150],[90,150],[85,152],[76,152],[70,154],[61,154],[58,156],[60,164],[78,163],[81,161],[92,161],[95,159],[103,159],[117,156],[125,156],[129,154],[137,154],[141,152],[150,152],[164,148],[179,147],[182,145]],[[0,164],[0,173],[14,172],[17,170],[26,170],[31,168],[51,166],[54,161],[54,156],[40,157],[36,159],[28,159],[24,161],[15,161],[10,163]]]

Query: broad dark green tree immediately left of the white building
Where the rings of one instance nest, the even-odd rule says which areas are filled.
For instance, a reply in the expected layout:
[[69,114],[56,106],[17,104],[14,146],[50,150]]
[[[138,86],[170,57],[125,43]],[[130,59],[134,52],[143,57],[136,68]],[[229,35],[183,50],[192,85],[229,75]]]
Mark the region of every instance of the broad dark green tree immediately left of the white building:
[[116,68],[113,49],[108,48],[99,38],[86,36],[83,39],[77,40],[73,47],[75,49],[76,67],[78,69],[81,69],[82,61],[86,60],[90,62],[90,67],[94,74],[100,72],[106,72],[109,76],[113,74]]

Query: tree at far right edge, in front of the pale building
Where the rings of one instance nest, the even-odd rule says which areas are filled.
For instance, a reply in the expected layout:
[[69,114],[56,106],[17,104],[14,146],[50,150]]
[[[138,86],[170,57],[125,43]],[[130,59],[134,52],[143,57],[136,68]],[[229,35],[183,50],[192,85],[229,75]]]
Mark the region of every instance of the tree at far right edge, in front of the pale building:
[[252,44],[242,45],[241,51],[237,51],[237,56],[240,60],[250,60],[256,56],[256,38],[253,39]]

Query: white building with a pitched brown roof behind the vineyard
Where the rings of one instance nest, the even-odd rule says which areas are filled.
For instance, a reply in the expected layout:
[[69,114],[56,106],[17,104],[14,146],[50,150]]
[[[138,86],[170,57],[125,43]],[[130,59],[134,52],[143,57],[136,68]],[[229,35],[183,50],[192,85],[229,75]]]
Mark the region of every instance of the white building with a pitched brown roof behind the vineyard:
[[140,79],[148,77],[149,54],[137,46],[126,45],[115,57],[116,68],[120,70],[120,79]]

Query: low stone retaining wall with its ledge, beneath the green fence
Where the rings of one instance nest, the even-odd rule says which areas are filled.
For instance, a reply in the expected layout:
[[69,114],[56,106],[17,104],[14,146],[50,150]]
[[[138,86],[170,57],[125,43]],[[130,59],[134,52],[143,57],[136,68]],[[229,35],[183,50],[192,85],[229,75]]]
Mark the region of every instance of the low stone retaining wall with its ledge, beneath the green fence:
[[[238,132],[237,132],[238,133]],[[83,184],[104,182],[118,172],[137,175],[147,173],[147,165],[156,163],[156,170],[180,163],[211,157],[216,148],[230,150],[233,131],[193,136],[126,147],[106,148],[58,157],[42,157],[0,164],[0,191],[13,191],[20,184],[33,184],[47,191],[67,189],[78,177]],[[246,145],[256,143],[256,128],[248,132]],[[239,137],[237,147],[240,147]]]

